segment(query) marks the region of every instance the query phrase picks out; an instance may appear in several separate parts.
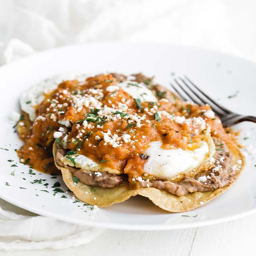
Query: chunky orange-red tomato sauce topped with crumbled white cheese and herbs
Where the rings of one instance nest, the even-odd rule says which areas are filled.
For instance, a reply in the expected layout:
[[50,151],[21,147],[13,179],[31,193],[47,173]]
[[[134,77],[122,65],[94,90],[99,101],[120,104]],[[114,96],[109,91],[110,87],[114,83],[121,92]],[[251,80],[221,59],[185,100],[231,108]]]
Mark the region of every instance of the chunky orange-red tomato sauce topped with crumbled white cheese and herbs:
[[52,145],[60,127],[67,130],[68,150],[132,175],[143,173],[143,152],[151,141],[162,141],[165,149],[189,150],[189,143],[199,143],[208,126],[213,136],[231,141],[210,106],[180,100],[173,104],[159,97],[142,102],[118,87],[118,82],[111,74],[102,74],[82,83],[65,81],[45,95],[18,150],[20,161],[56,173]]

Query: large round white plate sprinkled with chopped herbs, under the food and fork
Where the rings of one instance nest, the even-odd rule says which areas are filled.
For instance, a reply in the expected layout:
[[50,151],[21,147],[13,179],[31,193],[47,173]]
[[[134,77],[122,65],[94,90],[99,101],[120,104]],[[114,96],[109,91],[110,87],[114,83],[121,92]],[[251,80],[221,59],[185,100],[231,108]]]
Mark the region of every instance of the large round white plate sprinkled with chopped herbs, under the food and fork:
[[[134,230],[203,226],[231,221],[256,212],[256,160],[254,158],[253,161],[252,157],[248,157],[243,173],[231,189],[209,204],[188,213],[163,211],[147,198],[139,196],[96,210],[82,207],[82,203],[71,198],[71,193],[69,198],[61,198],[63,193],[54,197],[51,187],[54,182],[61,182],[64,191],[67,187],[61,177],[54,179],[37,171],[35,175],[30,175],[28,166],[19,163],[14,149],[22,143],[13,133],[9,113],[12,110],[19,112],[19,97],[23,91],[44,78],[70,70],[77,73],[115,71],[127,74],[142,71],[147,75],[154,74],[156,81],[166,87],[173,80],[173,73],[176,76],[186,74],[228,108],[238,113],[255,115],[256,64],[243,59],[184,46],[157,44],[88,44],[41,52],[0,68],[0,147],[9,149],[0,150],[2,199],[34,213],[63,221]],[[228,98],[236,91],[239,91],[237,97]],[[236,128],[242,130],[241,137],[250,137],[243,143],[256,148],[255,127],[255,124],[246,122]],[[250,135],[245,135],[246,132],[250,132]],[[10,163],[7,159],[15,161]],[[18,167],[11,167],[16,162]],[[12,171],[15,171],[15,176],[11,175]],[[42,183],[50,185],[46,188],[43,184],[31,184],[30,181],[35,179],[46,179]],[[6,182],[11,186],[6,186]],[[41,191],[45,189],[49,193]]]

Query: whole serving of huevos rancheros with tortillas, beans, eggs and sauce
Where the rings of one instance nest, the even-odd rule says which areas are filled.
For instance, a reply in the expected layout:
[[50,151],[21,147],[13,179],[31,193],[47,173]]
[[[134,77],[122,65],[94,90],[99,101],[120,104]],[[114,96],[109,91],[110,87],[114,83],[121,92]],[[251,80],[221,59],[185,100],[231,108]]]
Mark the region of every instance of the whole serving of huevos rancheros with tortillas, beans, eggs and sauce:
[[60,170],[76,197],[98,207],[142,195],[167,211],[192,210],[232,186],[243,166],[210,106],[182,102],[141,73],[47,80],[20,102],[20,161]]

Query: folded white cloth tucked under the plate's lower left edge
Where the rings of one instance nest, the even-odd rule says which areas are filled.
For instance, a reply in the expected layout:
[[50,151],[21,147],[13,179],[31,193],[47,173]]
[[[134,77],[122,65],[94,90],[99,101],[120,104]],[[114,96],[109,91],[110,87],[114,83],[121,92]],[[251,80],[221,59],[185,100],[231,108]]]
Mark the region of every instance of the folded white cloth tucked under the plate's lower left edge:
[[0,250],[65,249],[89,243],[102,232],[38,216],[1,199],[0,205]]

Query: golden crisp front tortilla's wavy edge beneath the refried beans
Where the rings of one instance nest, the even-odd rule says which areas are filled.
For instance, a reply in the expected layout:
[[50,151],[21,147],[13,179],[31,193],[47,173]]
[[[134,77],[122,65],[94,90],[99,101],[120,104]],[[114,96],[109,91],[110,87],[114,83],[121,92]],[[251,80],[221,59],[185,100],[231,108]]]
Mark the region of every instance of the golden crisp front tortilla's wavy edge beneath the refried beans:
[[[156,189],[154,187],[132,190],[129,188],[128,182],[125,181],[122,182],[119,186],[113,188],[95,187],[95,190],[91,191],[91,186],[87,186],[81,182],[75,184],[72,179],[72,172],[69,171],[69,169],[58,165],[56,162],[56,151],[57,146],[56,143],[54,143],[53,155],[55,165],[59,170],[61,170],[63,180],[67,187],[74,193],[74,195],[76,195],[76,197],[78,197],[83,202],[91,205],[97,205],[100,208],[108,207],[115,203],[124,202],[125,200],[135,195],[141,195],[150,199],[156,206],[159,206],[163,210],[170,212],[190,211],[197,208],[198,206],[210,202],[212,199],[224,193],[234,184],[232,183],[226,187],[215,189],[214,191],[189,193],[188,195],[182,197],[172,195],[171,193]],[[236,171],[236,178],[238,178],[242,167],[244,166],[245,159],[236,145],[230,147],[230,151],[234,155],[232,159],[232,166],[235,164],[237,167],[241,166],[241,169]],[[237,160],[239,159],[242,160],[242,165],[237,164]]]

